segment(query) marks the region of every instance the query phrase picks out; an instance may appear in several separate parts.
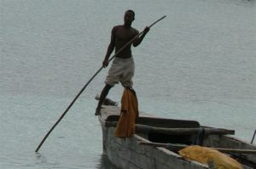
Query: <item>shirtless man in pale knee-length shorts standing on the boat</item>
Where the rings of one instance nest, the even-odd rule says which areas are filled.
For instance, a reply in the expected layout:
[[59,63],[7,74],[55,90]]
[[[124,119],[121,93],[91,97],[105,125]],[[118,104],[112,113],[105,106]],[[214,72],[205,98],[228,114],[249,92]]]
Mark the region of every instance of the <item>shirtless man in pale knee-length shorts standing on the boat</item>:
[[[116,54],[113,59],[113,65],[108,71],[108,76],[106,78],[106,86],[102,89],[102,93],[96,108],[95,115],[101,114],[101,106],[106,99],[108,92],[111,87],[115,84],[121,82],[123,87],[132,87],[133,82],[131,78],[134,76],[134,61],[131,55],[131,44],[133,47],[137,47],[142,41],[145,35],[149,31],[149,27],[146,27],[141,36],[137,36],[139,32],[131,27],[131,23],[135,20],[135,13],[132,10],[127,10],[124,16],[124,25],[116,25],[113,27],[111,32],[111,40],[108,45],[108,51],[103,60],[102,66],[108,66],[108,59],[115,49]],[[131,41],[132,38],[137,37],[131,44],[125,47],[123,50],[119,51],[120,48],[123,48],[125,44]]]

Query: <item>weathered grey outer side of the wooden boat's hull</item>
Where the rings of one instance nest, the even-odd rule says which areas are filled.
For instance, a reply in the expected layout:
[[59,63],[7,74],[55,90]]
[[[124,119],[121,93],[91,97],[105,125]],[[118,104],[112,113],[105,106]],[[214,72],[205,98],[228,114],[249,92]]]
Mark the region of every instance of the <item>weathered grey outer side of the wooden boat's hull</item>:
[[131,138],[114,137],[114,127],[102,127],[104,153],[114,166],[123,169],[205,169],[195,161],[184,161],[180,155],[165,148],[143,146],[148,141],[137,134]]

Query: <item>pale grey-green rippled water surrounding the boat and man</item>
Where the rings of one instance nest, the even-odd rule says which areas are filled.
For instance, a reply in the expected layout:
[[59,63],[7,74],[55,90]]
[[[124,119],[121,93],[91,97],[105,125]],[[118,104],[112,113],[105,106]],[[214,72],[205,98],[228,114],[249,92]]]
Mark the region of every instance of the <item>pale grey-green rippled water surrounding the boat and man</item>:
[[[236,130],[256,128],[256,6],[247,0],[0,0],[0,168],[112,168],[94,115],[103,69],[38,154],[38,144],[101,67],[126,9],[142,31],[132,48],[139,109]],[[121,85],[108,97],[119,101]],[[255,143],[255,141],[254,141]]]

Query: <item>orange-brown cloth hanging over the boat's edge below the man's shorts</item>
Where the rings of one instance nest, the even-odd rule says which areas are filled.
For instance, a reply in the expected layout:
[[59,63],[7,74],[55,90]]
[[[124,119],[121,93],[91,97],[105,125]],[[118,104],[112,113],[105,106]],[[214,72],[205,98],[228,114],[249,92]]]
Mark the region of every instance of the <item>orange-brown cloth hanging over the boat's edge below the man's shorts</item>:
[[115,136],[119,138],[131,137],[135,133],[135,123],[138,116],[138,103],[136,93],[125,88],[121,99],[121,115],[115,129]]

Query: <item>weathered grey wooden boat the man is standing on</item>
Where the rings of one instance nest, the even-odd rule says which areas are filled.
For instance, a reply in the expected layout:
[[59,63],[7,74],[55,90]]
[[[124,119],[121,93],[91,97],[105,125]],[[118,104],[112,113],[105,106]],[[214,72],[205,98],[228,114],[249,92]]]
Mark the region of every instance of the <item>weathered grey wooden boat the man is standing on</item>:
[[140,112],[136,133],[130,138],[114,136],[119,121],[119,107],[103,106],[98,119],[102,125],[103,152],[113,166],[124,169],[206,169],[197,161],[189,161],[177,153],[180,147],[200,144],[228,152],[245,169],[256,168],[256,146],[230,134],[234,130],[202,127],[197,121],[157,118]]

